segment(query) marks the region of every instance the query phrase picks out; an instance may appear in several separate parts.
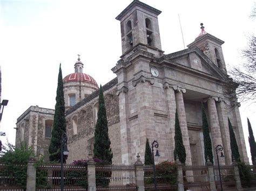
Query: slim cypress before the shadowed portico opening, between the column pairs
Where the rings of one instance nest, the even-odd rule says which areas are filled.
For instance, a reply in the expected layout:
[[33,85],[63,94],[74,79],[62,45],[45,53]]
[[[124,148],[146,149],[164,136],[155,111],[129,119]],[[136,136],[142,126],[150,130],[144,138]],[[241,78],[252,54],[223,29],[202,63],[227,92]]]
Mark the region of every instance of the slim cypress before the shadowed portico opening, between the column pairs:
[[203,136],[204,136],[204,147],[205,147],[205,161],[207,161],[207,157],[209,157],[210,161],[213,164],[213,153],[212,153],[212,141],[210,137],[210,131],[208,128],[208,122],[207,117],[205,114],[205,108],[202,103],[202,130],[203,130]]

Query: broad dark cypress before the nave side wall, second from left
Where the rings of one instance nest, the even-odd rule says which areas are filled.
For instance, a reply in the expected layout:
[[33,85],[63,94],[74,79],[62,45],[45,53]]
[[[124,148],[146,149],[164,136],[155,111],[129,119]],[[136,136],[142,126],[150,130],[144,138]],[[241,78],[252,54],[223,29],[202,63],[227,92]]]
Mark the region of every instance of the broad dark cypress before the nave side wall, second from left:
[[112,164],[113,153],[110,148],[111,142],[109,139],[109,128],[107,127],[106,108],[101,85],[99,88],[98,119],[95,127],[94,136],[94,157],[101,159],[108,164]]

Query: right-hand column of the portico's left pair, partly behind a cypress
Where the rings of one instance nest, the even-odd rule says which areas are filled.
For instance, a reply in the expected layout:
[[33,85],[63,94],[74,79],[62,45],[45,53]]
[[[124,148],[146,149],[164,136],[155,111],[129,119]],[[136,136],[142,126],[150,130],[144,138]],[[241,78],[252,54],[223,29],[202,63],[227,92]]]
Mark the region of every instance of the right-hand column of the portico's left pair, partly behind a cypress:
[[176,91],[175,93],[176,107],[178,112],[179,125],[180,125],[182,138],[183,138],[183,145],[185,146],[185,150],[186,150],[186,165],[192,165],[190,140],[188,136],[187,119],[186,119],[186,112],[185,112],[184,101],[183,101],[183,93],[186,93],[186,89],[180,88],[178,86],[173,86],[173,89]]

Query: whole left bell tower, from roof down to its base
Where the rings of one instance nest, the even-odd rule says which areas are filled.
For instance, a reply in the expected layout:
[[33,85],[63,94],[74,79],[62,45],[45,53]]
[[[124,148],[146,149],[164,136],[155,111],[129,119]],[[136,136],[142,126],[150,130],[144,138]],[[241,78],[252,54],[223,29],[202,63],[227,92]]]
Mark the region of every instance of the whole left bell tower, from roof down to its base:
[[116,17],[121,26],[123,55],[112,71],[118,79],[123,164],[133,164],[137,153],[144,160],[146,138],[153,141],[158,135],[159,125],[154,122],[156,104],[152,101],[163,86],[157,62],[163,56],[157,18],[160,13],[134,0]]

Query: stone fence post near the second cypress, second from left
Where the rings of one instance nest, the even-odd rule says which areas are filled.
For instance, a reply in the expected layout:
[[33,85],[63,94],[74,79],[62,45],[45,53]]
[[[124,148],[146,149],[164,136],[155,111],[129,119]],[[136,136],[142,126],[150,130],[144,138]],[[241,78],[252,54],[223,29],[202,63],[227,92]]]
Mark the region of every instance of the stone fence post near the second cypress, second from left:
[[95,173],[95,161],[92,158],[92,154],[88,155],[87,162],[87,180],[88,191],[96,191],[96,173]]

